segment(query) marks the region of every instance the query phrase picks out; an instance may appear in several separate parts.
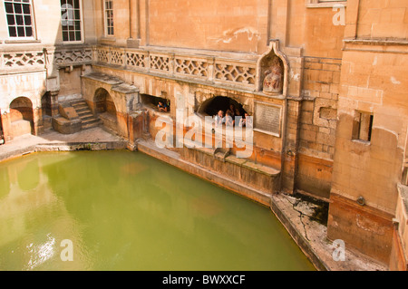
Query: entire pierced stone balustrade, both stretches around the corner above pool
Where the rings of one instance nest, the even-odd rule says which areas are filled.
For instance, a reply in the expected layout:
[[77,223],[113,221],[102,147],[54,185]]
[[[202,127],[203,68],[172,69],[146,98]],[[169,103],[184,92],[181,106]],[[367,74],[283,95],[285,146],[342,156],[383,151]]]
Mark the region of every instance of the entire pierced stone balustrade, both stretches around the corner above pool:
[[159,74],[180,80],[230,85],[249,92],[256,91],[256,61],[108,46],[5,51],[0,53],[0,74],[19,70],[44,70],[53,65],[66,67],[92,63],[112,65],[135,72]]

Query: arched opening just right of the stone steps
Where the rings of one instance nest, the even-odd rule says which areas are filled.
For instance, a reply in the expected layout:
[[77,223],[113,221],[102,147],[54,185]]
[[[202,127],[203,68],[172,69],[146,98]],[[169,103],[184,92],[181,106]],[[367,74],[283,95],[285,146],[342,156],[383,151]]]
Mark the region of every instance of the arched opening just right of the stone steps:
[[96,90],[95,95],[93,96],[93,104],[95,114],[102,120],[103,126],[109,130],[117,132],[118,117],[111,94],[103,88]]

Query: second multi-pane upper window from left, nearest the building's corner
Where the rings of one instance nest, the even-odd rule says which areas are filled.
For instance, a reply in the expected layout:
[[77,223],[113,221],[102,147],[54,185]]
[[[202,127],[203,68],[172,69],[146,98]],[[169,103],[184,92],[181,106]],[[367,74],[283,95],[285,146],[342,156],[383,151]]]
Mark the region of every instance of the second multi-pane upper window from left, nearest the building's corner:
[[80,0],[61,0],[61,24],[63,41],[83,42],[83,21]]

